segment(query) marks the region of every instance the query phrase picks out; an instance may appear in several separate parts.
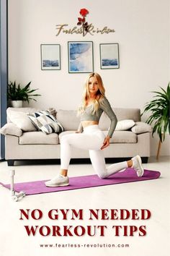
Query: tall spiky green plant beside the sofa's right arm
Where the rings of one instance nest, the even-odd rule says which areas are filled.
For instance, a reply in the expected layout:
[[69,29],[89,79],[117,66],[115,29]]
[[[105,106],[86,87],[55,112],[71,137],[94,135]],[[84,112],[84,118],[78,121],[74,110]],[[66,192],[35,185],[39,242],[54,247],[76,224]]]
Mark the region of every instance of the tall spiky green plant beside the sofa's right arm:
[[[146,107],[143,111],[151,111],[151,115],[146,120],[146,123],[153,124],[152,135],[157,132],[159,137],[158,152],[156,158],[158,159],[161,143],[165,140],[166,132],[169,131],[170,134],[170,116],[169,116],[169,105],[170,105],[170,88],[169,84],[164,90],[161,88],[161,92],[153,91],[156,93],[153,96],[153,101],[146,103]],[[143,114],[142,114],[143,115]]]

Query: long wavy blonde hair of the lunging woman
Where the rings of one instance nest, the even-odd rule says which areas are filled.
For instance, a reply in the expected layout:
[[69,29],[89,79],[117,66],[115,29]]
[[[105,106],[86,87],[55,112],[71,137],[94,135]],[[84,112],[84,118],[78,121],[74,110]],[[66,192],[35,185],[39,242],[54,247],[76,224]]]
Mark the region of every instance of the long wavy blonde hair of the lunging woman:
[[84,85],[84,93],[83,93],[83,98],[82,98],[82,103],[81,106],[78,109],[78,115],[83,113],[85,111],[86,108],[86,103],[90,97],[90,93],[89,93],[89,79],[91,77],[95,77],[97,79],[98,82],[98,91],[95,95],[95,98],[92,101],[92,114],[97,113],[99,110],[99,103],[102,103],[102,100],[104,98],[105,95],[105,89],[104,89],[104,85],[103,85],[103,81],[102,81],[102,77],[100,77],[99,74],[97,73],[91,73],[89,74],[89,76],[86,79],[85,85]]

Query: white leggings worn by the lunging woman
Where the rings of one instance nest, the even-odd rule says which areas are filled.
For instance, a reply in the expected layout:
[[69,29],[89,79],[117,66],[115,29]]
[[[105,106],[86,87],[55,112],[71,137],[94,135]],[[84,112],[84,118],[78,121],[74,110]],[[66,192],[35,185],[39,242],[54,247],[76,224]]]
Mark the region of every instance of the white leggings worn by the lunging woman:
[[61,168],[68,170],[71,160],[71,146],[89,150],[94,171],[96,171],[101,179],[107,178],[121,171],[123,168],[128,168],[127,161],[113,163],[106,168],[104,152],[100,149],[103,145],[104,138],[104,133],[99,129],[99,125],[97,124],[85,127],[83,133],[63,135],[61,137]]

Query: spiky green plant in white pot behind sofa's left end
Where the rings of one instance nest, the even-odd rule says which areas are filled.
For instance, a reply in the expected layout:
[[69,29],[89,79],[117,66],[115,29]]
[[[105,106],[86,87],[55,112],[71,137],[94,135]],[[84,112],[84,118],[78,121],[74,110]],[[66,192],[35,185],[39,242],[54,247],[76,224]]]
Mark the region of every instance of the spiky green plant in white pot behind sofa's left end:
[[27,103],[29,103],[30,100],[36,101],[35,98],[32,97],[40,96],[40,94],[32,94],[38,89],[30,89],[30,83],[31,82],[25,85],[24,88],[21,88],[15,81],[9,82],[7,88],[7,99],[11,100],[14,108],[22,107],[22,101],[27,101]]

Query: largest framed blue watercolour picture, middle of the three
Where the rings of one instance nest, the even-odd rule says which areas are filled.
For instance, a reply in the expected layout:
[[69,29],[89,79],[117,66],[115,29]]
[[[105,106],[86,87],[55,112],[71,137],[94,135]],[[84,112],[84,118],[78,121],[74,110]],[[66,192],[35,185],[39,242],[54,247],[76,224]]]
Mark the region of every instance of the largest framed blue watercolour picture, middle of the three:
[[68,42],[68,72],[91,73],[93,71],[93,42]]

